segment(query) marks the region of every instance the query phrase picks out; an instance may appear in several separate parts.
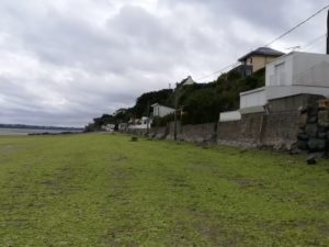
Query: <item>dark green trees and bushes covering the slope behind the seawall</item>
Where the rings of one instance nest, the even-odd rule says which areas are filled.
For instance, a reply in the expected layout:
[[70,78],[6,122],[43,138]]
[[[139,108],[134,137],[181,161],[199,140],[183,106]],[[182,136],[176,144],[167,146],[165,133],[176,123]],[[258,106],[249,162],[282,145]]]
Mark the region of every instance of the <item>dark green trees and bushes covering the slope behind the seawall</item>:
[[[213,123],[218,121],[219,112],[239,109],[240,92],[264,86],[264,69],[243,77],[238,70],[220,75],[215,81],[207,83],[178,85],[175,89],[162,89],[143,93],[136,99],[134,106],[117,114],[103,114],[93,119],[86,131],[98,131],[103,125],[127,123],[132,119],[141,119],[151,114],[154,103],[174,108],[183,124]],[[177,101],[177,103],[175,103]],[[155,117],[155,125],[166,125],[173,120],[173,114]]]

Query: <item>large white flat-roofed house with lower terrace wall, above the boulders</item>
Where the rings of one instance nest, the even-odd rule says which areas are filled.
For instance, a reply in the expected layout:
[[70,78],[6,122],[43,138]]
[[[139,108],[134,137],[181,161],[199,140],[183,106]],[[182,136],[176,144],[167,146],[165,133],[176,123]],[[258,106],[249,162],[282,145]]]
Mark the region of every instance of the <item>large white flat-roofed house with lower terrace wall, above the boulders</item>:
[[300,93],[329,96],[329,55],[293,52],[268,64],[265,87],[241,92],[240,112],[262,112],[269,100]]

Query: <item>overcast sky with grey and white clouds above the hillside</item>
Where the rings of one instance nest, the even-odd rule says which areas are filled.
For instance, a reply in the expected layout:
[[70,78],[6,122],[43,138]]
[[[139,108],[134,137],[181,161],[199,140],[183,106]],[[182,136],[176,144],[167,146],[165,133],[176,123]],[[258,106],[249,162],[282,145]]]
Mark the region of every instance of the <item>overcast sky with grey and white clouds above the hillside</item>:
[[[328,3],[0,0],[0,123],[83,126],[143,92],[198,81]],[[272,48],[324,53],[326,15]]]

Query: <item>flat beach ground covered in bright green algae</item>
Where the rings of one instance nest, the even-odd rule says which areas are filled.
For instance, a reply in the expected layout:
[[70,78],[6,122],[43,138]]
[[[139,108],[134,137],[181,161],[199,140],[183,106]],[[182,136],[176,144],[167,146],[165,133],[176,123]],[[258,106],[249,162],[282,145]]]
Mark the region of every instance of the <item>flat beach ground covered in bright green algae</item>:
[[1,136],[0,246],[329,246],[329,161],[120,134]]

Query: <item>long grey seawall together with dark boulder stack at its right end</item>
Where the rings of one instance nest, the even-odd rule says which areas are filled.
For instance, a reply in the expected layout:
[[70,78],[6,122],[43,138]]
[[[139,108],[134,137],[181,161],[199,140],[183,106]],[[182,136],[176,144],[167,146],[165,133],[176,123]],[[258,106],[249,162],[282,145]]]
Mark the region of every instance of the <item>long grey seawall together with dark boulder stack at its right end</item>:
[[[236,146],[269,146],[275,149],[324,151],[329,146],[329,106],[318,109],[319,96],[299,94],[272,100],[262,113],[243,114],[240,121],[183,125],[177,123],[177,138],[188,142],[216,142]],[[299,110],[304,109],[299,115]],[[298,134],[298,124],[302,132]],[[146,134],[134,130],[132,134]],[[174,123],[151,127],[148,136],[173,139]]]

